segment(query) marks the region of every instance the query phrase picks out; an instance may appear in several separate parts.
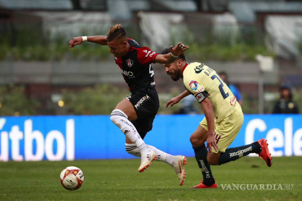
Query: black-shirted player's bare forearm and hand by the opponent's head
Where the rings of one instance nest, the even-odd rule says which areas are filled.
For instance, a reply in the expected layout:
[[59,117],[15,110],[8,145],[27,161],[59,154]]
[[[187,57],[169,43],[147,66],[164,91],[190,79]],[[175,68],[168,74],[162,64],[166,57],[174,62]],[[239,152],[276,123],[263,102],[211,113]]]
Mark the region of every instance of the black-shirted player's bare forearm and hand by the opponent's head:
[[159,54],[155,57],[154,62],[159,64],[171,64],[175,61],[177,56],[180,56],[184,51],[189,49],[189,46],[186,46],[179,42],[175,47],[170,46],[171,53],[162,55]]

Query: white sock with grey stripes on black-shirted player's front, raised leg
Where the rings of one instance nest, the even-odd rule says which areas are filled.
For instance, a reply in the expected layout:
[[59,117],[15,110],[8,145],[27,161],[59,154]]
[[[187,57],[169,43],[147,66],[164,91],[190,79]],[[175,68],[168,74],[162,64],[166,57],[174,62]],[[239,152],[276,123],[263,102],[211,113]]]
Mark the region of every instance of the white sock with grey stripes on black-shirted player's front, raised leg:
[[121,129],[126,137],[133,142],[140,151],[144,151],[147,149],[146,144],[134,125],[127,118],[127,115],[120,109],[114,109],[110,115],[111,121]]

